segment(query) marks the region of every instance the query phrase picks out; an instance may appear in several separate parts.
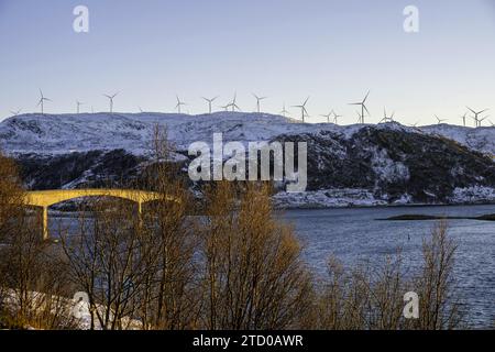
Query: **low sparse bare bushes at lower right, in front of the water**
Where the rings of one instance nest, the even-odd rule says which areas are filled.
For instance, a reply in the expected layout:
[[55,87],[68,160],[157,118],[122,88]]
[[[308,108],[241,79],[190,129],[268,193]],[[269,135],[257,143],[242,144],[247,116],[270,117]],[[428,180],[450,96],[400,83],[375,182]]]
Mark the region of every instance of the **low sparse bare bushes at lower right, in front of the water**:
[[[403,267],[398,252],[378,266],[344,268],[329,261],[329,277],[306,321],[314,329],[454,329],[460,326],[453,280],[455,244],[441,221],[422,248],[422,266],[416,274]],[[403,316],[404,294],[419,296],[419,319]]]

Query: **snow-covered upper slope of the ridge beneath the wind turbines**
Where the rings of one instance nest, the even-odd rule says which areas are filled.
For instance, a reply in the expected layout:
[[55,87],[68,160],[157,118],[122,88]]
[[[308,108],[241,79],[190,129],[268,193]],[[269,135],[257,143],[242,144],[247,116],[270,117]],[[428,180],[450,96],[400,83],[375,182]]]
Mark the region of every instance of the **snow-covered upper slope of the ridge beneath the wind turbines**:
[[[169,139],[178,150],[195,141],[211,141],[222,132],[226,141],[265,141],[280,134],[332,131],[346,138],[367,125],[302,124],[280,116],[265,113],[217,112],[187,116],[176,113],[81,113],[22,114],[0,123],[0,147],[11,154],[65,154],[92,150],[124,148],[143,154],[148,148],[156,123],[166,125]],[[380,124],[377,129],[421,131],[452,139],[473,150],[495,154],[495,128],[431,125],[406,128],[398,123]]]

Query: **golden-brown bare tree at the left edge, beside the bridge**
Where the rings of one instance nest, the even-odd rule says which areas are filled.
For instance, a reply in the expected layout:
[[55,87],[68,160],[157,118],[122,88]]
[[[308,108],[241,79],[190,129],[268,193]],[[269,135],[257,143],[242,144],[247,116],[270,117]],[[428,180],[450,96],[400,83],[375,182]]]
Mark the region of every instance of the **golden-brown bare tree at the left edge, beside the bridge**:
[[8,327],[75,327],[64,263],[41,240],[41,215],[23,207],[13,161],[0,156],[0,320]]

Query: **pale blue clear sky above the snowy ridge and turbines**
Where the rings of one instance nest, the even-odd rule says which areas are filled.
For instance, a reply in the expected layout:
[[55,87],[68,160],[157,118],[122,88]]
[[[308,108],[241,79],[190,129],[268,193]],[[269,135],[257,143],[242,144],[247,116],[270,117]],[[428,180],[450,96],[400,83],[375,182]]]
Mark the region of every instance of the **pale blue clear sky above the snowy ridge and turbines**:
[[114,111],[173,112],[178,95],[196,114],[201,97],[237,91],[243,111],[257,94],[263,111],[285,102],[299,118],[309,96],[307,122],[334,109],[348,124],[371,90],[366,122],[386,107],[405,124],[461,124],[466,106],[495,122],[495,0],[0,0],[0,120],[40,111],[41,88],[46,113],[107,111],[119,91]]

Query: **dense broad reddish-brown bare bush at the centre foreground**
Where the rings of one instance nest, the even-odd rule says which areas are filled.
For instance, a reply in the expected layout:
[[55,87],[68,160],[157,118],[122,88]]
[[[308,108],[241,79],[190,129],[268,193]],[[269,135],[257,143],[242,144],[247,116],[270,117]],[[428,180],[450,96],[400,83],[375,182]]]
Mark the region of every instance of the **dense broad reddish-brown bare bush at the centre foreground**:
[[200,229],[207,329],[284,329],[307,308],[310,277],[290,228],[275,221],[266,185],[219,183]]

